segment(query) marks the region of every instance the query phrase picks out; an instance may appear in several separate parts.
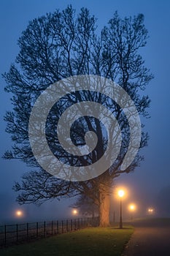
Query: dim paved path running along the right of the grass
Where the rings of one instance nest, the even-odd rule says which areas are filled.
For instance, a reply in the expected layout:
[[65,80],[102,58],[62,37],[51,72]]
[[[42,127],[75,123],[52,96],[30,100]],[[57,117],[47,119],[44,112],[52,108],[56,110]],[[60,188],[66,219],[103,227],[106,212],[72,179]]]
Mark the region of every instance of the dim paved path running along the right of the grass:
[[170,256],[170,219],[132,223],[135,230],[123,256]]

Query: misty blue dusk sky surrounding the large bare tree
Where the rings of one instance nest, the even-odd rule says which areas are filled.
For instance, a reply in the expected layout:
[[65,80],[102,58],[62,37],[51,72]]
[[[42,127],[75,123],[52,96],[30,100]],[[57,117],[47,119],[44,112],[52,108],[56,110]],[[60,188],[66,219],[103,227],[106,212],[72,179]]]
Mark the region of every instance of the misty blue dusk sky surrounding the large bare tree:
[[[144,94],[149,94],[152,100],[150,107],[151,118],[145,119],[145,129],[149,132],[149,146],[142,151],[144,162],[134,173],[126,174],[118,178],[115,183],[123,184],[131,188],[131,199],[144,202],[147,206],[155,202],[155,197],[163,187],[170,187],[170,120],[169,120],[169,96],[170,96],[170,1],[154,0],[105,0],[105,1],[57,1],[57,0],[1,0],[0,3],[0,26],[1,26],[1,61],[0,71],[8,71],[10,64],[15,61],[18,54],[18,38],[21,32],[26,29],[28,21],[46,12],[53,12],[55,9],[63,10],[68,4],[80,11],[81,7],[88,7],[90,13],[98,18],[98,29],[101,29],[112,14],[117,10],[121,17],[129,15],[144,14],[144,24],[149,31],[150,38],[147,46],[142,49],[142,56],[145,65],[149,67],[155,78],[151,81]],[[10,149],[12,141],[5,130],[4,114],[12,109],[10,102],[11,95],[4,92],[5,82],[0,78],[1,90],[1,155]],[[14,181],[19,181],[20,176],[28,170],[26,165],[18,160],[7,161],[0,159],[0,215],[9,216],[9,211],[18,208],[15,203],[15,192],[12,191]],[[169,195],[170,197],[170,195]],[[129,199],[130,200],[130,199]],[[170,200],[169,200],[170,201]],[[52,218],[49,209],[55,209],[57,217],[61,211],[70,204],[69,200],[62,202],[55,201],[41,206],[44,215],[39,214],[40,208],[26,206],[25,211],[36,212],[36,219]],[[19,206],[20,208],[20,206]],[[21,208],[24,208],[23,206]],[[60,210],[59,210],[60,208]],[[45,210],[45,211],[44,211]],[[41,211],[42,212],[42,211]]]

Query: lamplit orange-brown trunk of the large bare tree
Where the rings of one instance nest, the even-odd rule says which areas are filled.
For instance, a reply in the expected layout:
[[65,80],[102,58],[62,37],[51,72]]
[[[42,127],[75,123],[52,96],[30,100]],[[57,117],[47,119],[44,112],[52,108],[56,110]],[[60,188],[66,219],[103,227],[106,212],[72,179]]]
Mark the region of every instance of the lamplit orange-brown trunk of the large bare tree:
[[110,207],[110,196],[109,196],[110,187],[107,187],[104,184],[100,184],[99,188],[99,226],[100,227],[109,227],[109,207]]

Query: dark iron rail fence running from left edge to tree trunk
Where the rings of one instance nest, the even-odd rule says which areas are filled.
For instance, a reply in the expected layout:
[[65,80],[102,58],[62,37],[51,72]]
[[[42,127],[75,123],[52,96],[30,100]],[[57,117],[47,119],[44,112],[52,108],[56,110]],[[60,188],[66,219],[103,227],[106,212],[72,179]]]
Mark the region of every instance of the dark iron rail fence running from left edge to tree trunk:
[[89,226],[98,226],[98,217],[1,225],[0,246],[9,246],[31,239],[59,235]]

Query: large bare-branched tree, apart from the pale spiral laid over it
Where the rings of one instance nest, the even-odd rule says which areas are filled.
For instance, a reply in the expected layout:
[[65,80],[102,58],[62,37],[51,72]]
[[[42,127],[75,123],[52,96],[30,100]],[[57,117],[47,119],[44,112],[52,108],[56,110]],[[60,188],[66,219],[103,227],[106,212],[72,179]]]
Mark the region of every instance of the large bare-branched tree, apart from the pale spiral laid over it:
[[[12,135],[12,151],[4,154],[5,159],[20,159],[36,169],[24,174],[21,184],[15,184],[19,203],[42,203],[55,197],[88,196],[98,204],[100,225],[109,225],[109,195],[112,182],[121,173],[129,173],[139,165],[141,156],[126,169],[120,170],[125,151],[128,148],[128,124],[123,111],[115,102],[103,98],[101,94],[79,92],[61,99],[47,119],[47,139],[55,156],[69,164],[82,165],[96,162],[104,152],[106,137],[103,127],[96,118],[80,118],[72,127],[74,144],[85,145],[85,131],[93,130],[98,136],[98,146],[87,158],[72,159],[65,154],[55,137],[54,122],[71,104],[83,100],[104,103],[117,118],[122,129],[124,140],[122,151],[115,164],[101,176],[88,181],[71,182],[51,176],[36,162],[28,140],[28,121],[31,109],[37,97],[50,84],[72,75],[93,74],[109,78],[119,83],[134,101],[139,114],[147,117],[150,105],[148,96],[142,92],[152,79],[150,70],[144,67],[140,48],[147,42],[147,29],[144,27],[144,16],[121,19],[117,12],[107,26],[96,33],[96,18],[90,16],[86,8],[75,15],[71,6],[60,12],[56,10],[45,16],[32,20],[22,36],[18,39],[20,53],[15,64],[4,74],[7,82],[5,90],[13,94],[13,110],[5,116],[7,132]],[[72,103],[71,103],[72,102]],[[112,104],[111,104],[112,103]],[[55,120],[53,119],[55,115]],[[147,133],[142,132],[141,148],[147,145]]]

